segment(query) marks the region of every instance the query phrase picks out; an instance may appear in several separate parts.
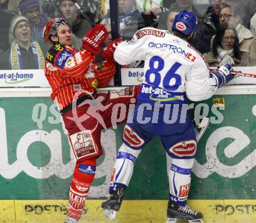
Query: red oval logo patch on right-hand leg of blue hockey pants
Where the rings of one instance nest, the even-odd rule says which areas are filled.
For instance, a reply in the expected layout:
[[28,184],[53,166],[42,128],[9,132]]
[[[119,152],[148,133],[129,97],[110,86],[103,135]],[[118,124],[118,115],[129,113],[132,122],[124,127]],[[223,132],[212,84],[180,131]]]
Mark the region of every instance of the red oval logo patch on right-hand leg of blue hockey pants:
[[178,142],[169,151],[179,157],[194,156],[197,152],[197,143],[194,140]]

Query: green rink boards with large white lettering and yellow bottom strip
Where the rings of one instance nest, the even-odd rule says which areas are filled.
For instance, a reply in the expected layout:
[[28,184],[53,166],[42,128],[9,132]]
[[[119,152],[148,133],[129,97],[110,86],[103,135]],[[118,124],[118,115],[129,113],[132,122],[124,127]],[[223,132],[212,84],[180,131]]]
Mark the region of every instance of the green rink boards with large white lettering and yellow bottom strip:
[[[74,160],[49,89],[25,90],[0,91],[0,223],[62,222]],[[212,120],[223,116],[198,144],[191,178],[190,202],[205,223],[256,222],[255,95],[253,86],[230,86],[194,104],[208,107]],[[100,204],[123,126],[102,131],[106,153],[98,159],[84,222],[111,222]],[[145,146],[116,222],[165,222],[171,161],[158,137]]]

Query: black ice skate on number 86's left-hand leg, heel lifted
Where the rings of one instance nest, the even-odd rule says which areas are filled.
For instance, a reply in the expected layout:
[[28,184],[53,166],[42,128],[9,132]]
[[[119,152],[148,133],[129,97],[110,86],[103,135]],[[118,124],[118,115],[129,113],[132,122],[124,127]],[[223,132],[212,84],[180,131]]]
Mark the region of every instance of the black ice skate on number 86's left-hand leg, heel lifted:
[[126,187],[122,185],[116,185],[116,190],[113,190],[108,200],[101,204],[104,209],[103,214],[110,220],[114,220],[116,217],[116,211],[119,211],[123,197],[125,196]]

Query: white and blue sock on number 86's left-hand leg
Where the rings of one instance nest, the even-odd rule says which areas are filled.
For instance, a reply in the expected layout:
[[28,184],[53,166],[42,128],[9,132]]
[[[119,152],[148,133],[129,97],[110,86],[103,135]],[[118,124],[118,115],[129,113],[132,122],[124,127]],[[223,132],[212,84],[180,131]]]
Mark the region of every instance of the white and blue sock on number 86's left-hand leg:
[[136,163],[138,154],[141,149],[131,149],[124,143],[118,150],[118,156],[116,157],[115,165],[112,170],[111,184],[109,192],[112,193],[115,190],[116,185],[125,186],[129,185],[131,175],[133,174],[134,163]]

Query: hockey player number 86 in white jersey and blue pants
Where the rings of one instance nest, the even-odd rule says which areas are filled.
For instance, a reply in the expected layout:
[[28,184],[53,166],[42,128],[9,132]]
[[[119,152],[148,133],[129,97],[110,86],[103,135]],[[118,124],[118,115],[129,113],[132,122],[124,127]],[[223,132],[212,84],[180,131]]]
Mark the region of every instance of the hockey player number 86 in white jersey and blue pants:
[[145,80],[123,130],[123,144],[111,176],[111,197],[102,203],[104,214],[112,220],[120,208],[141,149],[154,135],[159,135],[166,152],[173,158],[167,222],[176,222],[178,218],[190,223],[202,222],[202,214],[186,206],[191,168],[197,156],[195,130],[187,115],[186,100],[210,98],[233,76],[230,64],[209,72],[204,57],[187,42],[196,28],[197,18],[183,10],[175,17],[172,31],[143,28],[131,41],[116,47],[114,58],[119,64],[145,61]]

